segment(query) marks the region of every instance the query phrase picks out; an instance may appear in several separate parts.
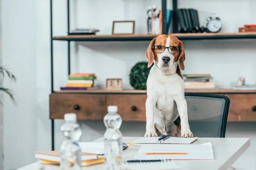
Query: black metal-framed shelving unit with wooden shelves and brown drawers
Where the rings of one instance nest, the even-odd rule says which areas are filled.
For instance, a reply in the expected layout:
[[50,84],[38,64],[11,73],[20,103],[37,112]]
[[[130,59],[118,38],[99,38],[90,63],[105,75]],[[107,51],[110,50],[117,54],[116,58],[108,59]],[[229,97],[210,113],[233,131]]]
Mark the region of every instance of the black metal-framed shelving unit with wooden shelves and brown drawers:
[[[67,65],[68,70],[67,74],[70,74],[70,42],[71,41],[150,41],[157,35],[148,35],[148,34],[136,34],[136,35],[68,35],[68,36],[53,36],[52,31],[52,1],[50,0],[50,49],[51,49],[51,92],[50,95],[50,119],[51,119],[51,129],[52,129],[52,150],[54,150],[54,119],[63,119],[64,113],[66,111],[73,111],[78,114],[78,119],[84,120],[99,120],[102,119],[102,113],[105,113],[106,105],[116,104],[115,100],[128,102],[133,105],[143,105],[145,102],[146,91],[136,91],[136,90],[127,90],[127,91],[54,91],[54,77],[53,77],[53,41],[67,41]],[[177,9],[178,0],[172,0],[172,10]],[[162,4],[162,33],[168,34],[168,29],[166,26],[166,0],[161,0]],[[230,40],[230,39],[256,39],[256,33],[185,33],[180,34],[178,32],[177,17],[175,12],[172,14],[172,34],[175,35],[179,40]],[[67,32],[70,32],[70,0],[67,0]],[[254,116],[256,111],[256,106],[253,102],[242,102],[251,101],[251,99],[256,98],[256,91],[234,91],[232,89],[212,89],[212,90],[186,90],[185,93],[210,93],[210,94],[222,94],[228,96],[232,99],[230,104],[230,115],[229,121],[256,121]],[[136,97],[134,97],[136,94]],[[114,96],[114,97],[113,97]],[[239,96],[239,97],[236,97]],[[81,100],[87,100],[87,102],[81,103]],[[239,99],[239,100],[238,100]],[[93,100],[93,102],[91,102]],[[80,102],[80,105],[77,103]],[[117,102],[117,104],[120,104]],[[145,104],[145,103],[144,103]],[[93,108],[96,108],[96,111],[84,110],[81,108],[81,105],[84,108],[90,108],[92,105]],[[123,106],[126,112],[131,112],[130,106]],[[237,109],[239,105],[239,109]],[[56,107],[59,108],[56,108]],[[134,106],[133,106],[134,107]],[[140,107],[140,106],[139,106]],[[61,110],[62,108],[66,110]],[[129,110],[130,109],[130,110]],[[140,111],[136,112],[139,116],[137,119],[127,118],[125,120],[129,121],[144,121],[143,113],[144,108],[140,108]],[[244,115],[244,111],[248,115]],[[52,113],[53,112],[53,113]],[[136,116],[135,116],[136,117]]]

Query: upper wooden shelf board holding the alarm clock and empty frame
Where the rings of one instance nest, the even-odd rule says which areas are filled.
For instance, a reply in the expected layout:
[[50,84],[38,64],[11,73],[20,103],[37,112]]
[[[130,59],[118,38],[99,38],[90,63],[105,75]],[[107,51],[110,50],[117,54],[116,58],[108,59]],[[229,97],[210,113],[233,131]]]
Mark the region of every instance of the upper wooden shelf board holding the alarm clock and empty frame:
[[[218,40],[218,39],[255,39],[255,33],[177,33],[179,40]],[[52,40],[63,41],[135,41],[152,40],[157,35],[150,34],[120,34],[120,35],[68,35],[56,36]]]

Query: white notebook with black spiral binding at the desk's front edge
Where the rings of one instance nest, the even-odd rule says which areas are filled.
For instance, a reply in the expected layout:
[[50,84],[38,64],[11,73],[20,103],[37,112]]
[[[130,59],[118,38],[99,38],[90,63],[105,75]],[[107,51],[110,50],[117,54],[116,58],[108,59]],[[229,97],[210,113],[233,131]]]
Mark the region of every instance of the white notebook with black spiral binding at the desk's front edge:
[[135,161],[125,161],[122,164],[122,170],[181,170],[179,167],[171,160],[135,160]]

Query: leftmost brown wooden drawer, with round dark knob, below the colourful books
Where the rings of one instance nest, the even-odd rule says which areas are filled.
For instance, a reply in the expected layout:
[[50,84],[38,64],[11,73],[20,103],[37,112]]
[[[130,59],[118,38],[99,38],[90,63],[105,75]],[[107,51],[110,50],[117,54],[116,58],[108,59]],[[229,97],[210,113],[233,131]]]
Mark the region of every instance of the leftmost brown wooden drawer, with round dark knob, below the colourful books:
[[105,94],[51,94],[50,119],[76,113],[79,120],[102,120],[107,113]]

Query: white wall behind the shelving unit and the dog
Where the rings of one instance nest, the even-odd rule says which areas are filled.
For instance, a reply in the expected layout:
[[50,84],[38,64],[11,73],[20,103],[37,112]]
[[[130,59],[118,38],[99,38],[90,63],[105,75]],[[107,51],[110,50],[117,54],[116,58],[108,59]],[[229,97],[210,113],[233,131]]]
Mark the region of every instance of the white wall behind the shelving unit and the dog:
[[[113,20],[136,20],[136,34],[146,33],[146,8],[160,0],[74,0],[71,4],[71,28],[96,27],[99,34],[111,34]],[[111,4],[113,3],[113,4]],[[201,4],[201,5],[200,5]],[[168,6],[171,4],[168,3]],[[237,32],[246,23],[256,23],[256,3],[252,0],[182,0],[180,7],[195,7],[201,23],[211,12],[220,15],[224,32]],[[238,9],[240,11],[239,12]],[[4,85],[13,89],[17,106],[5,96],[4,166],[15,169],[36,161],[34,151],[50,150],[50,39],[49,0],[2,0],[3,18],[3,65],[17,76],[16,83],[5,80]],[[66,34],[66,3],[54,0],[54,35]],[[233,21],[232,21],[233,20]],[[244,76],[246,83],[255,83],[256,40],[204,40],[183,41],[186,51],[184,73],[210,73],[217,87],[231,88],[237,77]],[[85,42],[72,43],[71,65],[74,72],[94,72],[96,84],[105,88],[105,79],[121,77],[124,88],[131,88],[128,74],[138,61],[145,60],[148,42]],[[54,42],[54,89],[67,82],[67,42]],[[118,70],[118,71],[116,71]],[[230,72],[231,73],[230,73]],[[55,121],[55,148],[62,142],[60,126]],[[81,141],[102,137],[105,127],[102,121],[80,121],[83,136]],[[253,147],[235,164],[236,167],[255,164],[255,123],[228,124],[227,137],[252,137]],[[138,130],[139,129],[139,130]],[[123,122],[123,136],[143,136],[144,122]],[[239,133],[236,133],[239,130]],[[246,132],[246,133],[245,133]],[[255,168],[255,167],[254,167]],[[248,168],[241,167],[240,170]],[[249,168],[250,169],[250,168]]]

